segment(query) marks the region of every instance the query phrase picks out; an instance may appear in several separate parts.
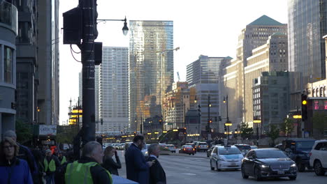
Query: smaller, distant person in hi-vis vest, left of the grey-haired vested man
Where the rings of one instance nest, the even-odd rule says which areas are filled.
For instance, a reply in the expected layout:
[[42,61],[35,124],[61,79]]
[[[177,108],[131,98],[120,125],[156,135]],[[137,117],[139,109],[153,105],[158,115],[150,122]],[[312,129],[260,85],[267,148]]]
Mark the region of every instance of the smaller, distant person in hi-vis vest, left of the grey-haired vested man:
[[46,174],[45,181],[47,184],[54,184],[54,172],[58,167],[60,167],[60,162],[56,156],[52,155],[52,151],[50,149],[45,151],[43,164]]

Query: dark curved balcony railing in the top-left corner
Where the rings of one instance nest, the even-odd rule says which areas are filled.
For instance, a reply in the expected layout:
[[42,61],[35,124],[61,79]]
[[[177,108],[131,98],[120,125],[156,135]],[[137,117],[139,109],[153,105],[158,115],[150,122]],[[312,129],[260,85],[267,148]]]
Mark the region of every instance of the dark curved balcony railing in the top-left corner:
[[17,8],[11,3],[0,0],[0,24],[8,26],[17,35]]

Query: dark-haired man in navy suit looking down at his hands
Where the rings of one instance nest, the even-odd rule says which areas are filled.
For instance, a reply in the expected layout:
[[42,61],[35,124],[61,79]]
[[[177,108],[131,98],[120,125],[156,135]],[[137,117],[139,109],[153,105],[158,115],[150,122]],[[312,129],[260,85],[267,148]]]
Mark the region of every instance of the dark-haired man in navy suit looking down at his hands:
[[133,139],[133,143],[126,151],[126,176],[131,181],[136,181],[140,184],[149,183],[149,167],[152,166],[152,162],[146,162],[142,153],[142,147],[144,143],[144,137],[136,135]]

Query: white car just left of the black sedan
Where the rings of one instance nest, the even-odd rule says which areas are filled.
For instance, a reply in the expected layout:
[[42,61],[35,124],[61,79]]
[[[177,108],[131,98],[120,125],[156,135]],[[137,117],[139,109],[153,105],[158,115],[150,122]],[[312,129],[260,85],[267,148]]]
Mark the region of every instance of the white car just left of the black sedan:
[[240,169],[243,158],[236,146],[215,146],[210,155],[210,169]]

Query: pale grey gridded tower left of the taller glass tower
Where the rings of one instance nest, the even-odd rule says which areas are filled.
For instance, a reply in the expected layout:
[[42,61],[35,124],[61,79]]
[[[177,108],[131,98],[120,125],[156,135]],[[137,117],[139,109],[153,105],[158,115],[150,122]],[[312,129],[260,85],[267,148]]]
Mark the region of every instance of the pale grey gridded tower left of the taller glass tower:
[[[129,130],[129,49],[103,47],[99,66],[99,120],[96,132]],[[99,123],[98,123],[99,124]]]

